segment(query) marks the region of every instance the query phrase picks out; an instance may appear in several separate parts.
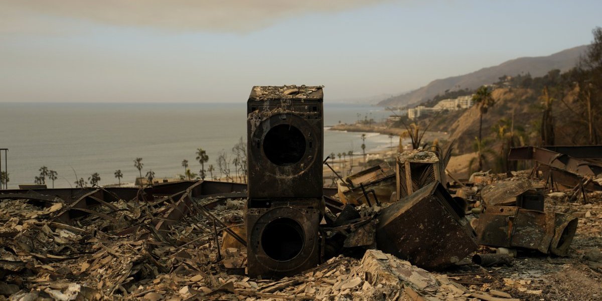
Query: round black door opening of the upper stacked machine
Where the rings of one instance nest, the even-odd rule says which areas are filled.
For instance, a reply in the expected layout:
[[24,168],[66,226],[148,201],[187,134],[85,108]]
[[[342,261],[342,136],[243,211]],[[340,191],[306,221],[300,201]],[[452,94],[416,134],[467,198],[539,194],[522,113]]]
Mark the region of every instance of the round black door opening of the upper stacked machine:
[[277,125],[265,134],[263,140],[265,157],[278,166],[299,163],[305,155],[305,135],[292,125]]

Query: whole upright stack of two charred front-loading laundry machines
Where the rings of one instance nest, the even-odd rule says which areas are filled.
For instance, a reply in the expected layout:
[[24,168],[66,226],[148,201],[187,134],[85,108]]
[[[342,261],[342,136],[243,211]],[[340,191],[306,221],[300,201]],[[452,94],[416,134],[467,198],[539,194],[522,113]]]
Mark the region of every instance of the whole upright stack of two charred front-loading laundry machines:
[[273,278],[320,262],[321,87],[253,87],[247,102],[247,272]]

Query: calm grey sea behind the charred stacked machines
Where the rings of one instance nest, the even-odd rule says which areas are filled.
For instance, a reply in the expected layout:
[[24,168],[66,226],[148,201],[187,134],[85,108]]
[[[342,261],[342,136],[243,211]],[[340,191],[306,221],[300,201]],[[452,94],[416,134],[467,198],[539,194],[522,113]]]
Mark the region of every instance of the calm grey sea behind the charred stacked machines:
[[[368,105],[324,104],[324,125],[354,122],[357,114],[380,120],[386,111]],[[325,131],[324,154],[361,154],[361,133]],[[182,160],[198,172],[194,154],[202,147],[217,166],[218,152],[231,151],[246,138],[246,104],[14,104],[0,103],[0,148],[8,148],[9,188],[32,184],[38,169],[58,172],[55,187],[70,187],[76,177],[101,176],[101,185],[138,176],[134,158],[143,158],[143,175],[174,178]],[[367,134],[367,150],[389,146],[386,135]],[[4,166],[4,160],[2,161]],[[48,183],[48,182],[47,182]],[[49,184],[49,183],[48,183]],[[50,184],[49,184],[50,185]]]

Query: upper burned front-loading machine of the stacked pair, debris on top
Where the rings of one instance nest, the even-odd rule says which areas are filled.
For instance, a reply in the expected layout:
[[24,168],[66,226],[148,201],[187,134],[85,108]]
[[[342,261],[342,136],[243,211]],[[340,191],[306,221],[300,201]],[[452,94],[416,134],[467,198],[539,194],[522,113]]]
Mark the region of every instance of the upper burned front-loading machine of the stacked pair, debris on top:
[[322,197],[323,92],[253,87],[247,102],[249,197]]

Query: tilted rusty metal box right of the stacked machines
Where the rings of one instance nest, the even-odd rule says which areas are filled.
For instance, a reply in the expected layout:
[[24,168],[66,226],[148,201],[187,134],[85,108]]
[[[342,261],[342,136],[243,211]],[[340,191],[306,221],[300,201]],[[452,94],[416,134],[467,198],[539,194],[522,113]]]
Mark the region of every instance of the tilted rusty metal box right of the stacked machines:
[[477,249],[463,206],[434,181],[382,209],[377,248],[429,270],[456,264]]

